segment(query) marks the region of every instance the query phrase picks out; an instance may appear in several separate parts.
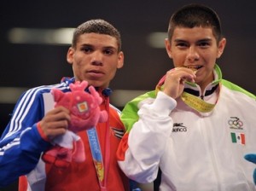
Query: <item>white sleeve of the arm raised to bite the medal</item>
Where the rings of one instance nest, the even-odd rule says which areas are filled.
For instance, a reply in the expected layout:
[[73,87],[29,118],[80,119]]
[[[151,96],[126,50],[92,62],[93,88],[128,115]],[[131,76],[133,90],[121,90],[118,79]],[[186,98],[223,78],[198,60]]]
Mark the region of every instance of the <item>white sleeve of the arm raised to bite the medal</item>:
[[172,133],[169,115],[176,105],[174,99],[159,92],[153,103],[140,108],[139,119],[129,133],[125,160],[119,161],[127,177],[142,183],[153,182],[157,177],[160,157]]

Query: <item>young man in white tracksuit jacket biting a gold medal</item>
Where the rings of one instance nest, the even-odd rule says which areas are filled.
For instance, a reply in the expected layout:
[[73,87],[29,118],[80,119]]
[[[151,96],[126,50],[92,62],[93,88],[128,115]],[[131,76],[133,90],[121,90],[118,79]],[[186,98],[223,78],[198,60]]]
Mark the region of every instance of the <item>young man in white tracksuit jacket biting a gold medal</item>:
[[155,190],[247,191],[255,165],[255,96],[222,78],[218,14],[189,4],[172,15],[166,51],[174,68],[156,90],[125,106],[127,130],[117,153],[119,166]]

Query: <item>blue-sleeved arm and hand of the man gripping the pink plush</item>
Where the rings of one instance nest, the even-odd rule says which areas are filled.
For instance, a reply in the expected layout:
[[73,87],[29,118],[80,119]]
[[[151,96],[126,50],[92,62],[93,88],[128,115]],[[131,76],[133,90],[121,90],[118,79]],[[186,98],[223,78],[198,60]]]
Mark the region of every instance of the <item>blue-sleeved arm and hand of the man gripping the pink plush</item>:
[[48,140],[66,131],[67,109],[55,108],[44,116],[44,108],[42,92],[35,89],[17,102],[0,140],[0,186],[32,171],[41,153],[50,147]]

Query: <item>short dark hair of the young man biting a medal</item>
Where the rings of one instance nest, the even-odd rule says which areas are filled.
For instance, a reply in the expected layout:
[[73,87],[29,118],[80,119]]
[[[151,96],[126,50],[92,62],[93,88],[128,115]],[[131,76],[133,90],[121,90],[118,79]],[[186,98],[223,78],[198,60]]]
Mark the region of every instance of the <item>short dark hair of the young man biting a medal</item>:
[[222,38],[221,24],[218,14],[203,4],[192,3],[178,9],[169,21],[168,38],[171,40],[177,26],[193,28],[195,26],[211,27],[212,33],[219,42]]

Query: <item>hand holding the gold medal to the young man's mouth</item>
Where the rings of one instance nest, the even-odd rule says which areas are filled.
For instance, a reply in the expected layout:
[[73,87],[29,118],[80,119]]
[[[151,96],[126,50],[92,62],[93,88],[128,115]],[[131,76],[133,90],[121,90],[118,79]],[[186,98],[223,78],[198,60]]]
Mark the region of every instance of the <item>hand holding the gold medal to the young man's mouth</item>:
[[166,80],[163,92],[176,99],[181,96],[185,81],[195,82],[195,72],[186,67],[175,67],[166,72]]

